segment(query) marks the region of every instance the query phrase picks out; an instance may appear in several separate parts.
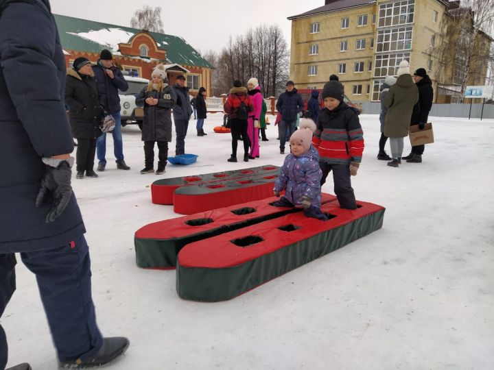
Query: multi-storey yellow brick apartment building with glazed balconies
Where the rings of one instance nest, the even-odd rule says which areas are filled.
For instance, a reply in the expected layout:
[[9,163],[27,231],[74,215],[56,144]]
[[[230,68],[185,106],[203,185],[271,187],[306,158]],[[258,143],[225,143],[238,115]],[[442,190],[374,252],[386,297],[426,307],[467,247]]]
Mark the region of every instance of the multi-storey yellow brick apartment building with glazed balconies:
[[443,0],[326,0],[288,18],[290,77],[301,88],[322,88],[336,74],[350,99],[379,101],[384,77],[396,75],[401,60],[407,60],[412,73],[427,70],[437,99],[433,50],[447,9]]

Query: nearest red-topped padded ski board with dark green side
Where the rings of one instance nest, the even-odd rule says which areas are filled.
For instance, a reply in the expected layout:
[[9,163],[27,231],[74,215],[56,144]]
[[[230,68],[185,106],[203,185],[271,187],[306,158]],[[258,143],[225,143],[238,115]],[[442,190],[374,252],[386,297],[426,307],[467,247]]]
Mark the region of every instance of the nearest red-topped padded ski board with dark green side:
[[232,299],[381,228],[385,209],[357,204],[357,210],[343,210],[338,201],[322,205],[329,221],[300,211],[185,246],[178,254],[178,295]]

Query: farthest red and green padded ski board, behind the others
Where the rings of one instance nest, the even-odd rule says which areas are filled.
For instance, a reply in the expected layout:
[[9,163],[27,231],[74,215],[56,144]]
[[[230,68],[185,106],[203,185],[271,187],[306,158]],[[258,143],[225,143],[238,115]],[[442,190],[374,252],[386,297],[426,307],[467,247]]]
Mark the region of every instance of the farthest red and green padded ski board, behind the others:
[[184,177],[172,177],[169,179],[156,180],[151,184],[151,199],[154,204],[173,204],[174,191],[180,186],[197,185],[206,182],[222,182],[224,180],[235,180],[243,177],[257,176],[268,177],[278,175],[279,167],[270,164],[249,169],[233,171],[204,173],[202,175],[191,175]]

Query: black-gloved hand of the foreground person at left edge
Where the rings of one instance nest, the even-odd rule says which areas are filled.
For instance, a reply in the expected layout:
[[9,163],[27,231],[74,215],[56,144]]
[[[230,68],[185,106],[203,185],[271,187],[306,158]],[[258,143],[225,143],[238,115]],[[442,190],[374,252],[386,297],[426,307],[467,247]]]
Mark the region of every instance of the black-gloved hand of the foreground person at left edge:
[[43,206],[51,199],[51,208],[46,223],[52,223],[63,213],[72,196],[72,170],[69,162],[63,160],[58,167],[47,166],[41,179],[41,187],[36,196],[36,207]]

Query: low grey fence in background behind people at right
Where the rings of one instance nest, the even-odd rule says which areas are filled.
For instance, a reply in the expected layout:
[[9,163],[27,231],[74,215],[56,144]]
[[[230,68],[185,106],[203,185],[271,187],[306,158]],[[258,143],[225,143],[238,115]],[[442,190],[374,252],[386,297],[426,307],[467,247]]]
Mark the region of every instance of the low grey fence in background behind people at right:
[[[373,103],[371,101],[354,101],[354,103],[362,103],[362,114],[379,114],[381,103]],[[470,104],[433,104],[430,116],[438,117],[462,117],[468,118]],[[471,118],[480,118],[482,104],[472,104]],[[494,119],[494,104],[484,104],[484,119]]]

